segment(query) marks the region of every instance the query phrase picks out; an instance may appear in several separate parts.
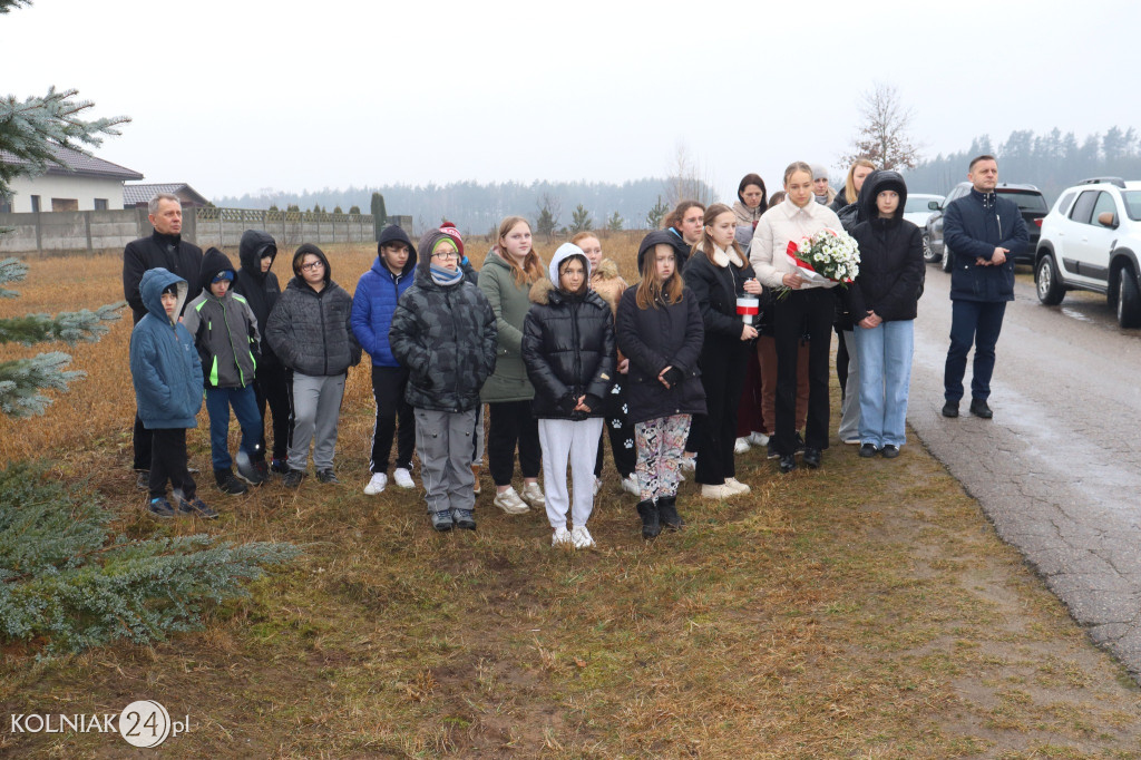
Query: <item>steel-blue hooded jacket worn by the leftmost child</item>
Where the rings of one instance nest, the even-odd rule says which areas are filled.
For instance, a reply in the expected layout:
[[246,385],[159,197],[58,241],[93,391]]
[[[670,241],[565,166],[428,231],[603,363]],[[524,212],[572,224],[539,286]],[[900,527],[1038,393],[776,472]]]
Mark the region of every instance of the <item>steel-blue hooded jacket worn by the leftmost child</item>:
[[194,341],[162,308],[162,291],[173,284],[178,285],[178,314],[189,291],[185,280],[159,267],[145,272],[139,283],[147,313],[131,332],[131,381],[147,430],[197,427],[195,418],[202,407],[202,363]]

